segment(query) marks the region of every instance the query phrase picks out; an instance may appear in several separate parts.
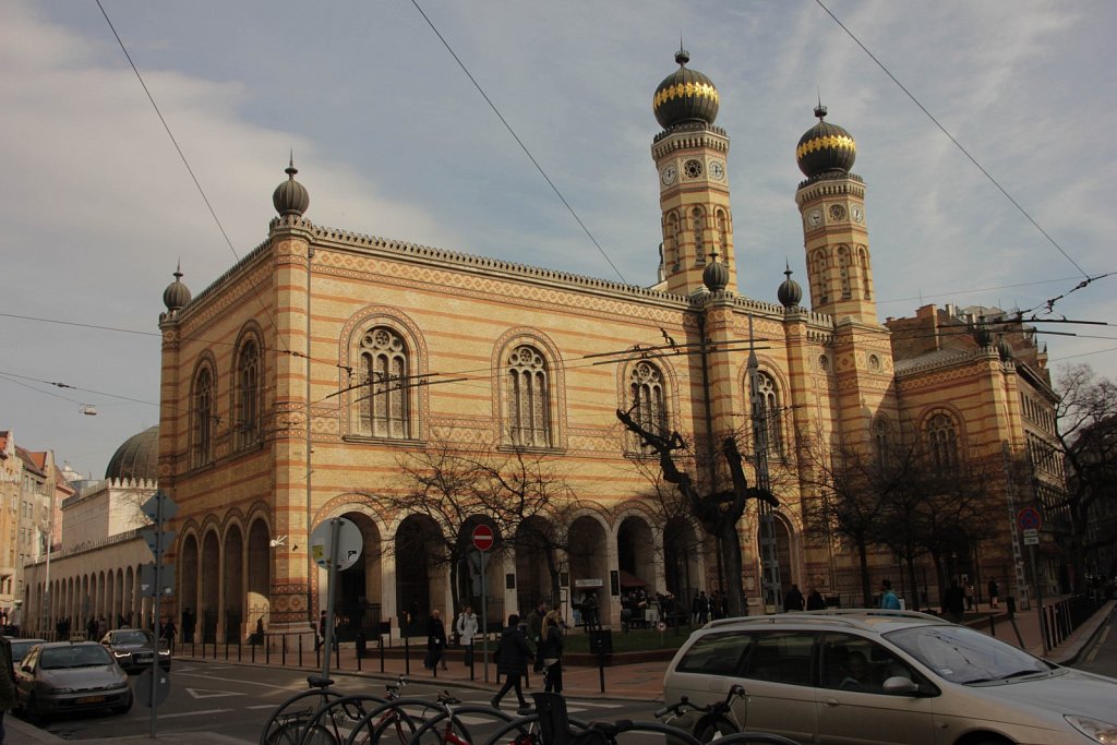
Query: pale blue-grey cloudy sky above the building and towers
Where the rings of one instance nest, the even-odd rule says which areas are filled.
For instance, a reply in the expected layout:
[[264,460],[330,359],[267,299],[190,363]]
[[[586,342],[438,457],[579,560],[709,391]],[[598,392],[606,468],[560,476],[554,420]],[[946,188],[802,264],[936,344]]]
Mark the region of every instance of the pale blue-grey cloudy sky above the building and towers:
[[[163,288],[267,237],[292,150],[317,225],[652,284],[651,99],[680,34],[722,96],[743,294],[774,302],[785,260],[806,284],[794,149],[819,96],[857,141],[881,319],[1117,270],[1117,3],[822,2],[887,73],[814,0],[418,0],[607,260],[410,0],[102,0],[220,227],[97,3],[7,0],[0,430],[101,477],[157,424]],[[1115,287],[1047,317],[1117,324]],[[1079,334],[1040,336],[1056,372],[1117,378],[1117,329],[1038,326]]]

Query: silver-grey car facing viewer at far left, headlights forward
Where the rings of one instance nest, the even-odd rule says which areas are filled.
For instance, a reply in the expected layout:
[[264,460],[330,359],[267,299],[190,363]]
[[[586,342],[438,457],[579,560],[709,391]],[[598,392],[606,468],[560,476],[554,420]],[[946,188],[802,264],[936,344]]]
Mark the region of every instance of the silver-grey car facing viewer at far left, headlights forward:
[[95,641],[52,641],[32,647],[16,669],[16,704],[30,722],[48,714],[132,708],[128,677]]

